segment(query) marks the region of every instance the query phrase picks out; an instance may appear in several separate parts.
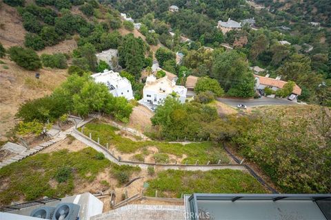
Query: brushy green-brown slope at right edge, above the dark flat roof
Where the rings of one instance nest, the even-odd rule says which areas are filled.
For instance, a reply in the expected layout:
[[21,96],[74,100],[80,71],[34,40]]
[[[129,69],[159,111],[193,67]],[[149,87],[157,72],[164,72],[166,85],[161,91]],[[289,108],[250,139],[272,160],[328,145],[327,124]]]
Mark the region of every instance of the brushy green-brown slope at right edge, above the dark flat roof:
[[236,121],[237,151],[289,193],[330,193],[331,109],[261,107]]

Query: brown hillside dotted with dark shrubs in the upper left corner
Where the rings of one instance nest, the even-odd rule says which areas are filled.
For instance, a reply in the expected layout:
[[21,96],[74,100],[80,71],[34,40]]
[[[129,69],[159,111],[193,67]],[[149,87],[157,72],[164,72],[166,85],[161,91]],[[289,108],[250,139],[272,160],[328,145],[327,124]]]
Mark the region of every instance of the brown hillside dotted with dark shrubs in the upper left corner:
[[[107,50],[107,34],[121,38],[134,34],[146,42],[138,30],[127,30],[117,10],[97,1],[6,1],[0,0],[0,43],[8,50],[13,46],[32,47],[41,54],[66,54],[68,65],[72,64],[72,52],[84,43],[91,43],[96,52]],[[27,45],[27,36],[34,39]],[[41,46],[40,46],[41,45]],[[147,43],[146,43],[147,45]],[[155,52],[158,45],[151,45]],[[66,77],[64,69],[42,67],[29,71],[10,61],[9,55],[0,58],[0,140],[6,140],[6,133],[17,124],[14,115],[20,104],[27,100],[51,94]],[[38,72],[39,80],[34,78]],[[6,124],[6,126],[5,126]],[[10,135],[10,134],[9,134]]]

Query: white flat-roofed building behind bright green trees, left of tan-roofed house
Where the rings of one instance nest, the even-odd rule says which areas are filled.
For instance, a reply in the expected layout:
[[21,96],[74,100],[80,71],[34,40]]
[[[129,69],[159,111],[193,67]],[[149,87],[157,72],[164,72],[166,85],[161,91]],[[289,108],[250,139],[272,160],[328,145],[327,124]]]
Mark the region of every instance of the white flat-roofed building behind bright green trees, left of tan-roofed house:
[[133,99],[130,81],[125,77],[121,77],[119,73],[105,69],[103,73],[93,74],[92,78],[96,83],[105,84],[113,96],[123,96],[127,100]]

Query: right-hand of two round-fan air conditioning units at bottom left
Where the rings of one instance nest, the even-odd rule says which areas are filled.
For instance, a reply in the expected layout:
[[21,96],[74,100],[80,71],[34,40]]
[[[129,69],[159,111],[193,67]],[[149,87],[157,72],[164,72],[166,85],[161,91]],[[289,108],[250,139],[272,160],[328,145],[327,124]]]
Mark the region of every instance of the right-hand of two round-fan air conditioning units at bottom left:
[[76,220],[81,206],[74,203],[59,203],[52,220]]

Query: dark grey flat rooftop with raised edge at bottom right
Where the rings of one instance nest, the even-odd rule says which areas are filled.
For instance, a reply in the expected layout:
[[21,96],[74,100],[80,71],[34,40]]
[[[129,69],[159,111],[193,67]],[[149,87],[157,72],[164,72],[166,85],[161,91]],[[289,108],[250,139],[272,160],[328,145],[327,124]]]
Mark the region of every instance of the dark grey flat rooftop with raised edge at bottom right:
[[330,220],[331,194],[185,195],[186,219]]

